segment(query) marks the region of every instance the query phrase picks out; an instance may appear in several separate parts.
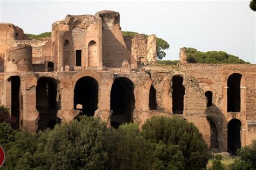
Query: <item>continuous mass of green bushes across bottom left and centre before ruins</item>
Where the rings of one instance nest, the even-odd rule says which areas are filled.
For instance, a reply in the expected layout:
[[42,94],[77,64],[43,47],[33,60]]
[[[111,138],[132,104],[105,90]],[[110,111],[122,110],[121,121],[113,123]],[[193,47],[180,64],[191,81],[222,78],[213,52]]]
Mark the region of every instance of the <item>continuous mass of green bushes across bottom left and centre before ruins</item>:
[[[6,169],[201,169],[208,152],[196,126],[180,118],[153,117],[107,128],[95,117],[30,133],[0,124]],[[3,137],[3,138],[2,138]],[[200,161],[198,161],[200,160]]]

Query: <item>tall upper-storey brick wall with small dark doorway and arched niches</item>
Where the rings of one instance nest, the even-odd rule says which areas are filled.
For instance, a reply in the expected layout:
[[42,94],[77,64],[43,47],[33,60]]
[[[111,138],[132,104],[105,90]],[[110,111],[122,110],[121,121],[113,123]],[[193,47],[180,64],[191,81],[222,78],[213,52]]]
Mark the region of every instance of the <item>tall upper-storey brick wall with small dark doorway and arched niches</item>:
[[102,22],[92,15],[67,15],[52,24],[56,69],[65,66],[102,67]]

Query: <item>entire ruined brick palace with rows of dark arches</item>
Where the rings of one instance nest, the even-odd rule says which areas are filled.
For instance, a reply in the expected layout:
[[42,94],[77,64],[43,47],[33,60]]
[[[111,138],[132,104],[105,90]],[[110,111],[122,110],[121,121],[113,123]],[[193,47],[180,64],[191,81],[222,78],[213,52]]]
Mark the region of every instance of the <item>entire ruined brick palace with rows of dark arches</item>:
[[188,64],[181,50],[178,69],[146,66],[156,62],[156,36],[123,37],[119,19],[68,15],[41,40],[0,23],[1,104],[14,128],[37,132],[80,114],[141,126],[177,114],[218,151],[256,138],[256,65]]

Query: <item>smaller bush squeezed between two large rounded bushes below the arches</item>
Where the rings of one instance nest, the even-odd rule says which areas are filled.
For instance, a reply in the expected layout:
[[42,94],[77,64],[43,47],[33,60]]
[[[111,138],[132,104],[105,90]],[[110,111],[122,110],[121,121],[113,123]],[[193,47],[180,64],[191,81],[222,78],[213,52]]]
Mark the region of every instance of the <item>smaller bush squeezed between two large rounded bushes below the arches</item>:
[[107,169],[149,169],[152,147],[140,136],[137,124],[123,124],[107,134],[109,161]]

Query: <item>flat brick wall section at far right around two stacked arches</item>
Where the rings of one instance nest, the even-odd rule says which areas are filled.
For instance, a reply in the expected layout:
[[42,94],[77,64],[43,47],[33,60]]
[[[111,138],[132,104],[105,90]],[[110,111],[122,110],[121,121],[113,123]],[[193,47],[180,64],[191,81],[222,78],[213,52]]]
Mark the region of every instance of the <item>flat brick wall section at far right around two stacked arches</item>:
[[[254,121],[255,114],[255,73],[254,64],[180,64],[181,69],[196,77],[200,88],[213,93],[213,105],[207,107],[207,119],[213,121],[218,131],[219,149],[227,149],[227,124],[239,119],[242,146],[251,143],[255,131],[249,129],[247,121]],[[233,73],[242,75],[240,82],[240,112],[227,112],[227,79]],[[252,123],[253,124],[253,123]],[[248,129],[247,129],[248,128]]]

